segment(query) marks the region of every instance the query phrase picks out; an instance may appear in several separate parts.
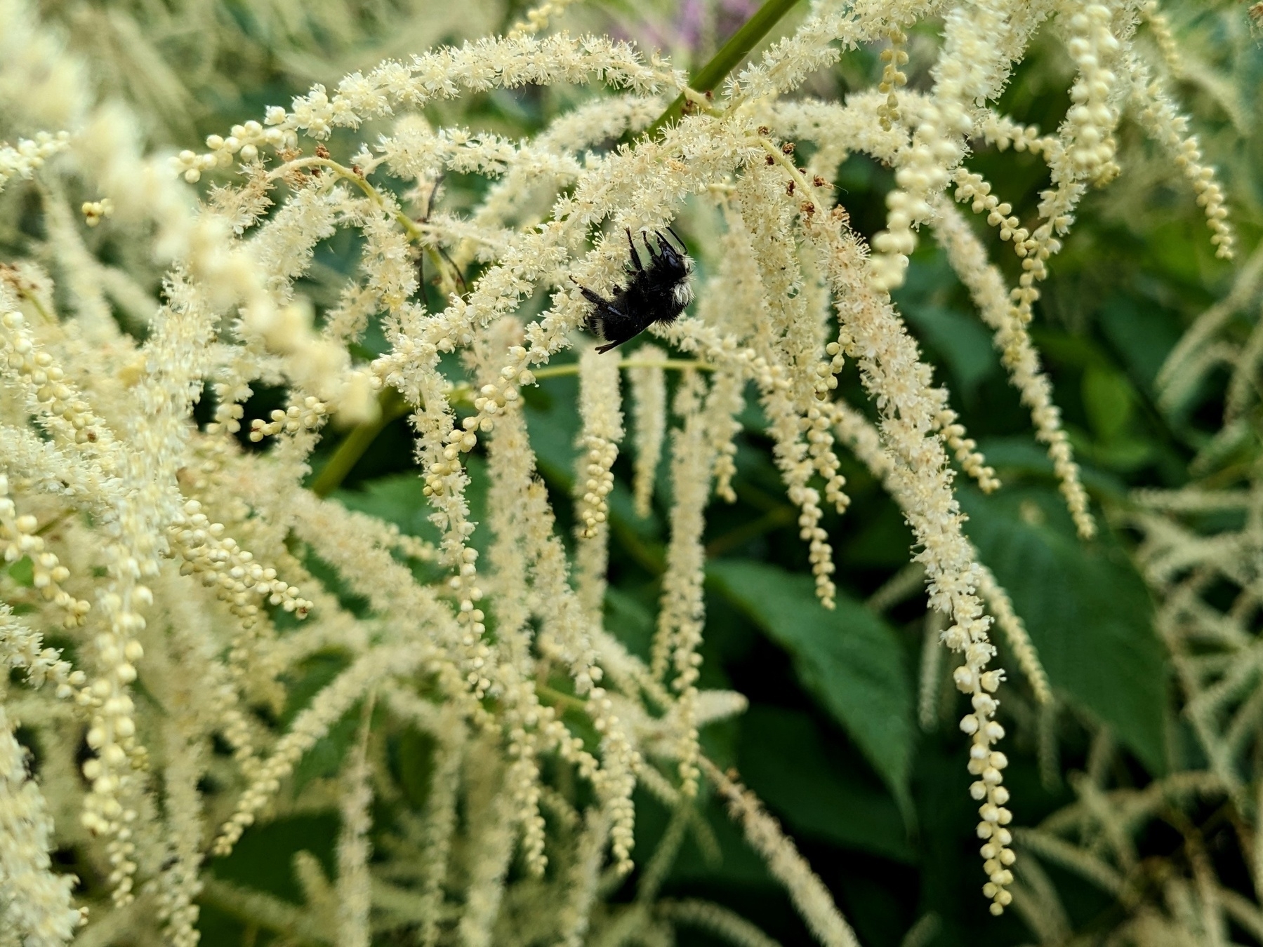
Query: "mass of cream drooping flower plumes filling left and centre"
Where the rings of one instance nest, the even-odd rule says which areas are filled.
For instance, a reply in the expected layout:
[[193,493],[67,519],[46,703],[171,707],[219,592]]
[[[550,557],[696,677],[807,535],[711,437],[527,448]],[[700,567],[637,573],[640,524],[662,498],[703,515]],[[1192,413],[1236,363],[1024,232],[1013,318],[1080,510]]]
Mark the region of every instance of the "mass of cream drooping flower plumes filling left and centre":
[[[338,798],[338,878],[330,885],[309,864],[299,874],[335,919],[338,943],[416,928],[426,944],[488,944],[510,923],[504,905],[515,894],[556,905],[542,913],[541,937],[563,943],[584,943],[597,924],[669,933],[671,918],[686,915],[744,929],[682,904],[595,907],[609,880],[633,867],[634,789],[687,812],[706,784],[822,942],[853,943],[825,885],[700,739],[705,724],[743,707],[735,694],[702,689],[700,665],[706,508],[712,492],[734,496],[748,395],[767,418],[825,607],[837,593],[826,510],[849,503],[839,444],[884,481],[912,528],[930,605],[943,616],[941,641],[960,659],[954,679],[970,700],[960,729],[979,803],[983,890],[993,913],[1012,902],[1014,816],[995,720],[1004,673],[991,667],[984,602],[1026,676],[1043,678],[965,535],[951,461],[984,490],[999,482],[933,385],[889,290],[904,279],[919,227],[933,227],[1090,535],[1026,327],[1084,193],[1118,174],[1114,133],[1132,100],[1177,153],[1219,253],[1231,251],[1223,193],[1132,42],[1146,5],[818,0],[720,96],[692,96],[686,117],[639,138],[685,77],[626,43],[542,35],[565,6],[532,11],[508,38],[386,61],[333,91],[313,86],[289,109],[270,106],[208,136],[205,150],[164,160],[147,157],[124,105],[73,85],[82,71],[32,10],[0,0],[4,43],[25,38],[29,51],[0,58],[0,96],[40,76],[71,77],[61,98],[21,110],[23,121],[47,128],[23,129],[33,138],[0,152],[0,187],[38,182],[33,200],[56,235],[44,259],[56,282],[35,263],[0,270],[0,548],[10,563],[30,562],[29,582],[11,596],[23,614],[5,606],[0,655],[58,708],[40,727],[52,739],[38,783],[0,711],[0,826],[18,827],[0,837],[0,918],[28,943],[64,942],[80,918],[68,880],[51,869],[42,790],[81,803],[78,823],[56,831],[106,880],[91,923],[152,923],[152,904],[178,944],[197,941],[200,898],[231,895],[203,860],[321,793]],[[943,15],[942,48],[930,88],[912,92],[901,71],[904,28],[931,13]],[[1046,23],[1066,37],[1077,69],[1075,105],[1047,133],[994,105]],[[842,51],[882,40],[890,48],[878,92],[787,97]],[[594,101],[528,141],[433,128],[422,114],[475,93],[563,83],[595,86]],[[624,135],[633,144],[608,146]],[[346,146],[354,136],[362,141]],[[1047,162],[1051,188],[1036,221],[1023,225],[966,167],[973,149],[990,145]],[[806,167],[799,148],[812,152]],[[856,152],[895,169],[873,255],[827,186]],[[440,210],[450,173],[491,179],[485,200],[460,216]],[[203,178],[216,183],[198,205],[192,186]],[[73,188],[88,200],[67,203]],[[1012,245],[1017,288],[1005,287],[951,197]],[[114,227],[139,236],[168,268],[164,303],[143,333],[120,330],[107,297],[144,292],[93,255],[69,206],[93,236]],[[711,274],[695,314],[655,327],[657,345],[628,352],[625,364],[621,352],[591,350],[568,361],[589,314],[577,287],[608,293],[625,279],[624,230],[678,222],[687,235],[705,221],[721,236],[695,247]],[[302,280],[326,278],[316,253],[341,232],[355,235],[359,256],[344,261],[340,302],[317,319]],[[385,343],[366,360],[370,323]],[[837,394],[851,366],[875,426]],[[669,455],[669,542],[647,660],[610,634],[602,611],[624,369],[640,511],[650,508],[663,444]],[[679,371],[673,399],[668,370]],[[558,500],[537,476],[524,405],[544,372],[570,371],[580,376],[582,422],[572,549],[556,524]],[[287,399],[246,434],[265,451],[236,437],[263,386]],[[207,390],[213,408],[200,420]],[[678,419],[669,434],[668,403]],[[359,424],[351,441],[398,404],[416,434],[434,544],[326,499],[318,481],[304,486],[331,420]],[[476,521],[471,485],[484,463],[486,515]],[[53,634],[75,641],[73,664],[42,646]],[[287,681],[327,653],[342,659],[332,681],[274,727]],[[304,783],[296,802],[288,780],[299,782],[304,756],[344,720],[357,726],[341,779]],[[76,759],[72,726],[85,734],[86,759]],[[378,871],[368,841],[374,793],[404,792],[378,754],[403,731],[432,745],[431,779]],[[520,879],[510,871],[519,851]],[[232,898],[264,927],[313,927],[261,895]]]

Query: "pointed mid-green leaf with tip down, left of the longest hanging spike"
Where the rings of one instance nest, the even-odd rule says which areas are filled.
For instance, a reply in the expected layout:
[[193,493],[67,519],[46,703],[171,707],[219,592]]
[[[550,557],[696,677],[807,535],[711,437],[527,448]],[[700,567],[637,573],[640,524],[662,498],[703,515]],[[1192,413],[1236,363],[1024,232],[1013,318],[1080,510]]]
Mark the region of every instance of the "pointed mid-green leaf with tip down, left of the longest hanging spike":
[[816,583],[775,566],[721,559],[707,568],[716,588],[793,658],[802,686],[842,726],[909,811],[912,687],[894,630],[837,593],[823,609]]

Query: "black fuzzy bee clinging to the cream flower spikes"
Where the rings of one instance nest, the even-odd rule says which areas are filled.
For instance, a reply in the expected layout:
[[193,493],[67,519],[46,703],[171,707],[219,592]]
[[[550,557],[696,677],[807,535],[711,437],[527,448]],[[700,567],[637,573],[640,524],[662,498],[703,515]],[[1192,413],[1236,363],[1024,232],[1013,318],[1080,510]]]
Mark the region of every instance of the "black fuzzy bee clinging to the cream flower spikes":
[[635,338],[654,322],[674,322],[676,317],[692,302],[693,290],[688,287],[688,273],[692,270],[692,261],[688,251],[685,250],[685,241],[676,231],[667,227],[679,244],[677,250],[671,241],[658,231],[658,249],[654,251],[645,234],[644,249],[649,253],[648,269],[640,261],[637,253],[635,241],[632,240],[632,231],[628,230],[628,245],[632,247],[632,265],[628,266],[626,289],[614,287],[613,299],[606,299],[599,293],[594,293],[587,287],[580,287],[580,292],[587,302],[592,303],[592,312],[587,317],[587,330],[605,340],[596,351],[608,352],[615,346],[620,346],[630,338]]

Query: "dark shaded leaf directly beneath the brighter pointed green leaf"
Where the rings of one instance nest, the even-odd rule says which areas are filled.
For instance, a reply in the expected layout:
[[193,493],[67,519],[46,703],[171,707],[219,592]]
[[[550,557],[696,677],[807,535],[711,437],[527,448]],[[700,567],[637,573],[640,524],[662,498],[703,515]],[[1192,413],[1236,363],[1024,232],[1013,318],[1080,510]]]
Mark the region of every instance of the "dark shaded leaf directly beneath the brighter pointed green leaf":
[[845,766],[810,716],[754,705],[740,726],[743,779],[794,833],[912,861],[898,807],[868,768]]

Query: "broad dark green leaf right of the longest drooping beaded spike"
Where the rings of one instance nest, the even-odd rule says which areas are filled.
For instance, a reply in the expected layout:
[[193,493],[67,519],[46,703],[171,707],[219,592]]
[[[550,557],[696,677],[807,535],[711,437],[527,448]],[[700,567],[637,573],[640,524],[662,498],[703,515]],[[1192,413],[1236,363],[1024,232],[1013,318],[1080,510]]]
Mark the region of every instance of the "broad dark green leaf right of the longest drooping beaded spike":
[[1166,653],[1144,582],[1110,537],[1081,543],[1060,495],[960,491],[966,532],[1013,599],[1052,686],[1166,770]]

